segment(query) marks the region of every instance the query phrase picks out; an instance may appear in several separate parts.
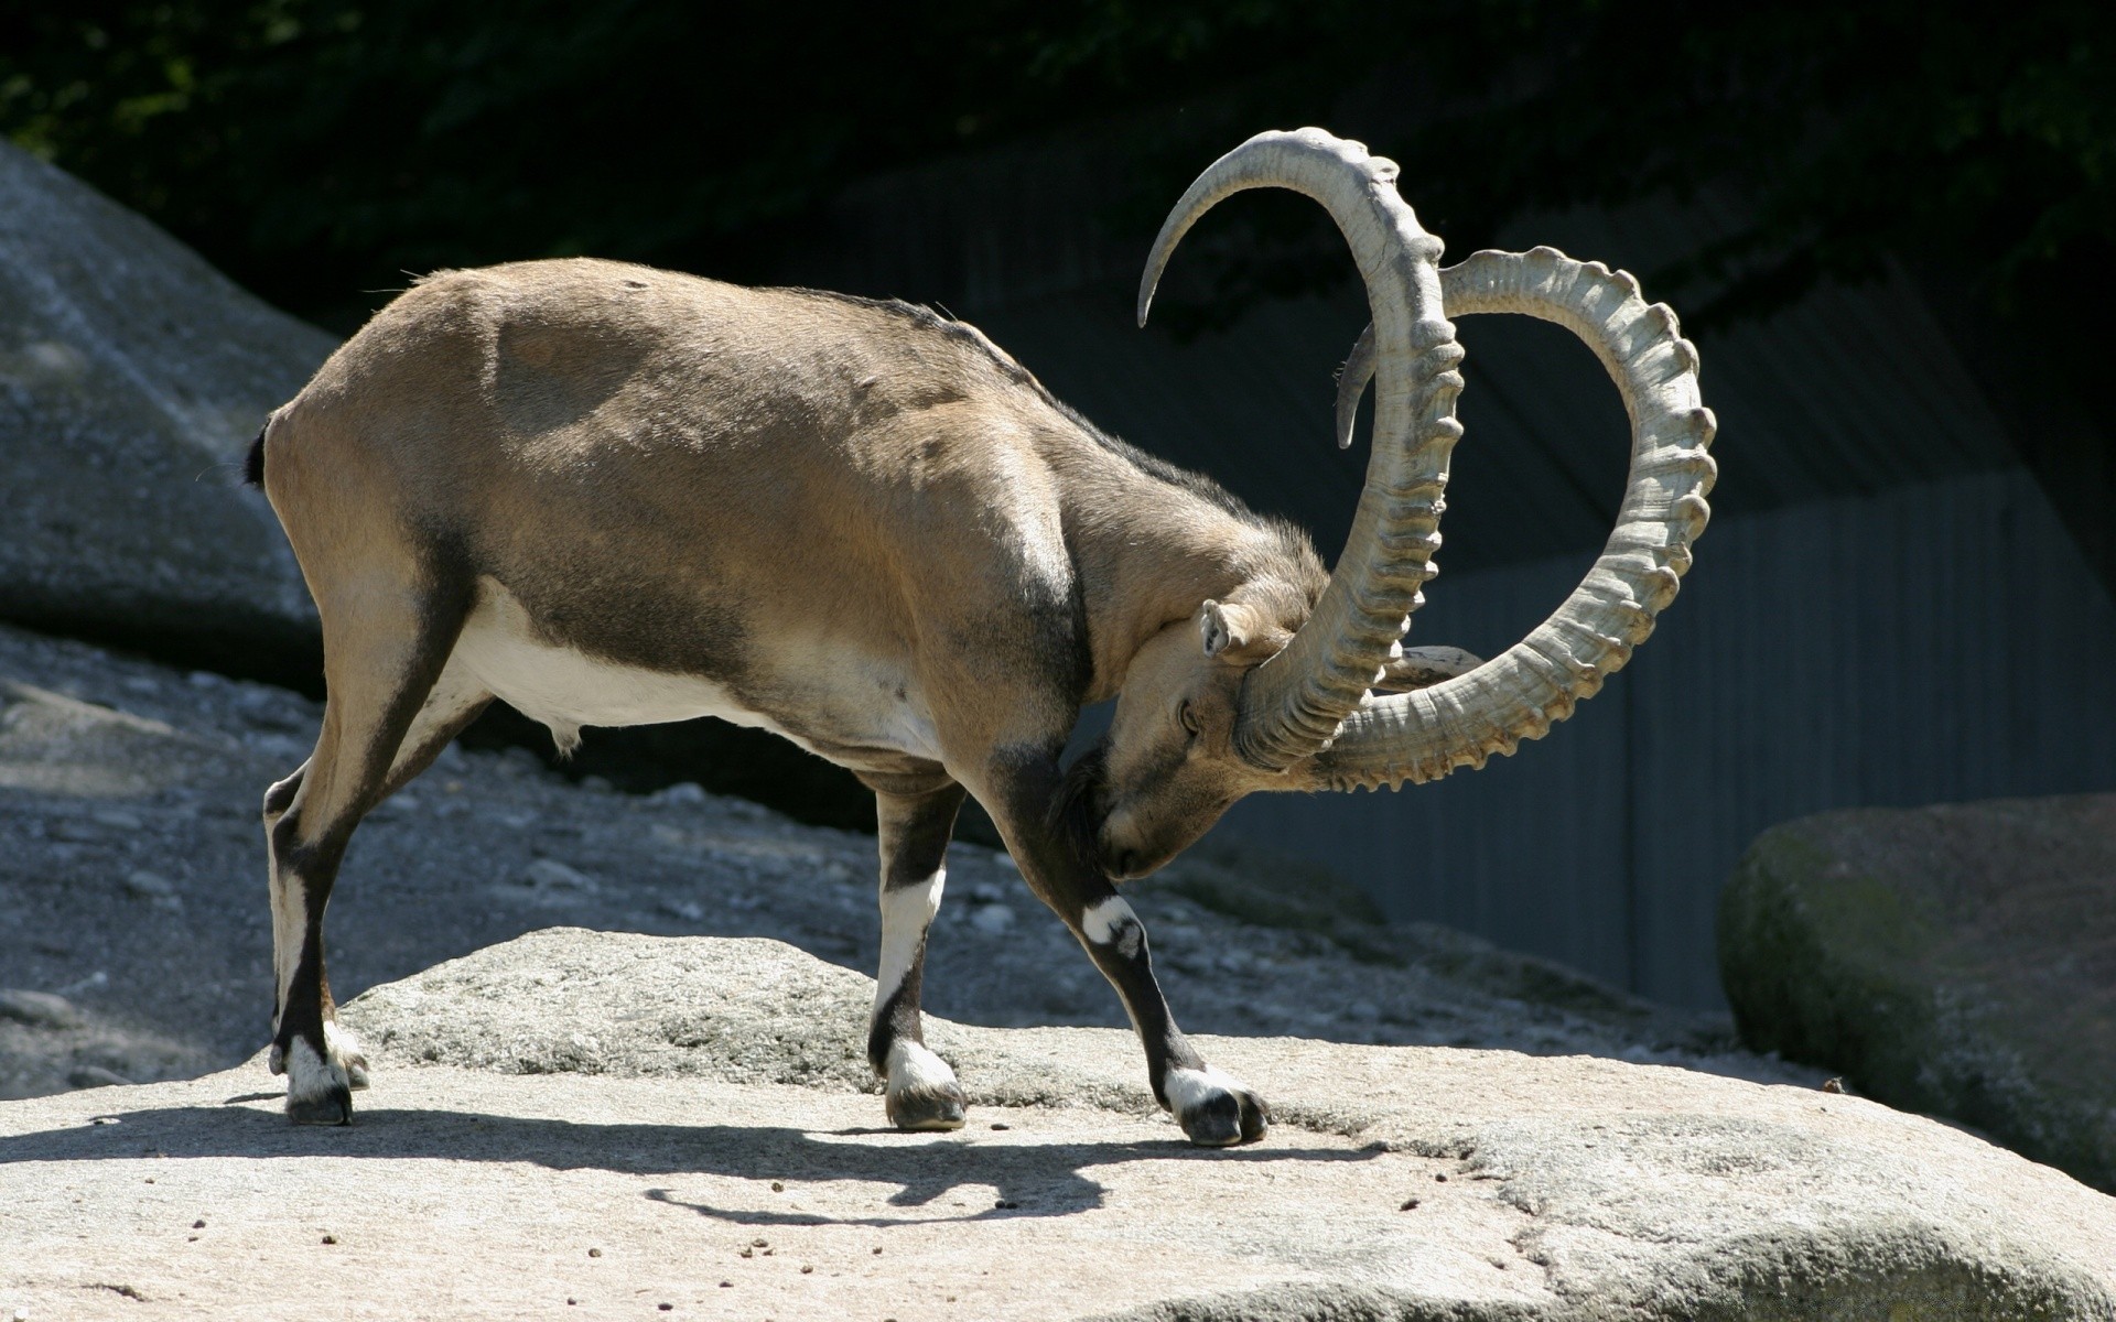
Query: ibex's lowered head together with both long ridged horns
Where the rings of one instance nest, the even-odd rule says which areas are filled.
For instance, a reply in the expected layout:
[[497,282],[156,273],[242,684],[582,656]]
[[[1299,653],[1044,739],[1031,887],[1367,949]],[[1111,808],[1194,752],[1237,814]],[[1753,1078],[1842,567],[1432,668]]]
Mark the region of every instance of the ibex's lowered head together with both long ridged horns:
[[[1653,632],[1710,516],[1712,412],[1697,351],[1638,281],[1551,247],[1479,252],[1439,269],[1441,243],[1397,197],[1397,165],[1318,129],[1259,133],[1191,184],[1162,226],[1138,319],[1189,226],[1244,188],[1293,188],[1329,209],[1367,283],[1373,324],[1346,364],[1339,444],[1375,381],[1373,455],[1344,554],[1320,592],[1263,580],[1204,601],[1132,660],[1109,736],[1075,768],[1058,812],[1113,876],[1141,876],[1257,789],[1373,789],[1483,766],[1540,738]],[[1631,417],[1615,531],[1587,577],[1490,662],[1399,639],[1437,573],[1447,461],[1462,434],[1449,315],[1517,311],[1570,328]],[[1390,694],[1388,690],[1411,690]]]

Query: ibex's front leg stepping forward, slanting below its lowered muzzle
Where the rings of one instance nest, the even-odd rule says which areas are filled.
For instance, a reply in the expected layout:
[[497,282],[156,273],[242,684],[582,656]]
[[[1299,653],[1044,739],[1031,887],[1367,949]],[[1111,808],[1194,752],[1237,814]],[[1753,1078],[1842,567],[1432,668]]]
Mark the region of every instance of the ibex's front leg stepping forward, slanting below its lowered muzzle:
[[1054,821],[1062,778],[1052,755],[1033,755],[999,768],[982,797],[999,823],[1014,861],[1037,899],[1064,920],[1088,958],[1117,988],[1124,1011],[1147,1051],[1147,1079],[1162,1108],[1174,1115],[1183,1134],[1200,1146],[1232,1146],[1263,1138],[1272,1110],[1240,1079],[1204,1062],[1176,1020],[1168,1013],[1162,986],[1153,977],[1147,929],[1132,905],[1117,895],[1092,861],[1092,850]]

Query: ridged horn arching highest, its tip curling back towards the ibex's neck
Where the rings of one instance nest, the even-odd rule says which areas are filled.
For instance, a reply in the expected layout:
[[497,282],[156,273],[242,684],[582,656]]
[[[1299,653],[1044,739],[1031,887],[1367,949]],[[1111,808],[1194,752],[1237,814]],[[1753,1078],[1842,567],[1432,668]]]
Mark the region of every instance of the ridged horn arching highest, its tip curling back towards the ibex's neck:
[[1337,222],[1367,281],[1375,322],[1375,427],[1367,489],[1314,613],[1278,656],[1242,681],[1234,747],[1282,772],[1325,749],[1422,605],[1437,573],[1447,455],[1462,436],[1454,400],[1462,347],[1441,317],[1441,241],[1397,197],[1397,163],[1322,129],[1259,133],[1215,161],[1162,224],[1138,281],[1145,326],[1168,256],[1212,205],[1244,188],[1291,188]]

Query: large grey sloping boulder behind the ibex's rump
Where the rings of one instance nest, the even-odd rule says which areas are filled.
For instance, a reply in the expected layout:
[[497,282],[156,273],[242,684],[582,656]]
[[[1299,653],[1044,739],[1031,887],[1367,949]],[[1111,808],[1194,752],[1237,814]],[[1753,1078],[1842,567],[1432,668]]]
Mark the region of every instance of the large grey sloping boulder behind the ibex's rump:
[[298,673],[313,611],[241,457],[332,343],[0,140],[0,618]]

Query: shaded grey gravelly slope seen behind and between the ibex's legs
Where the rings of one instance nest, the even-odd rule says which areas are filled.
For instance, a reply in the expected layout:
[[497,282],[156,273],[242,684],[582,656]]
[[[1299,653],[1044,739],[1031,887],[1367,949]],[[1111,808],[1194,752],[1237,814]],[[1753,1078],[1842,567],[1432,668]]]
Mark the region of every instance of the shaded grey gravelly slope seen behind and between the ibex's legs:
[[[317,719],[286,690],[0,628],[0,1098],[190,1077],[264,1043],[256,804]],[[624,795],[527,751],[451,751],[353,840],[330,905],[332,988],[351,998],[554,924],[777,937],[872,973],[874,867],[872,838],[745,800]],[[1739,1051],[1725,1017],[1445,929],[1371,924],[1354,895],[1297,874],[1191,857],[1138,886],[1187,1028],[1820,1081]],[[961,842],[927,1007],[986,1026],[1124,1022],[1009,859]]]

